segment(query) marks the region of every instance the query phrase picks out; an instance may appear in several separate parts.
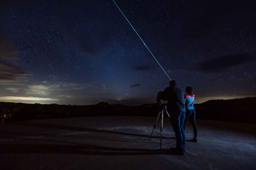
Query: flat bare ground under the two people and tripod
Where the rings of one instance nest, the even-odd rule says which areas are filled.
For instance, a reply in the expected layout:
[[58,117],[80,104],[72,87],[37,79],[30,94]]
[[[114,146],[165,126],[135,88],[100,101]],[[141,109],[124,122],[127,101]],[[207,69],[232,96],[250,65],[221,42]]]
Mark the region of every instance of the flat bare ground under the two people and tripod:
[[[256,124],[196,120],[199,143],[174,155],[168,117],[96,116],[0,124],[1,169],[255,169]],[[153,131],[154,129],[154,131]],[[151,136],[151,132],[153,134]],[[150,138],[151,137],[151,138]],[[162,140],[160,150],[160,140]]]

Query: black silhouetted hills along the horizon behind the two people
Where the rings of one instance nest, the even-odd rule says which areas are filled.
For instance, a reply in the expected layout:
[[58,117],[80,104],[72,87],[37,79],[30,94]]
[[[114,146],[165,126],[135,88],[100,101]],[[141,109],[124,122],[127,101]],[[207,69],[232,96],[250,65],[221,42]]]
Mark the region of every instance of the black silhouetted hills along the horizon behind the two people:
[[[232,100],[209,100],[194,104],[196,119],[219,120],[229,122],[256,123],[256,97]],[[24,104],[0,102],[1,122],[14,122],[33,119],[53,119],[86,116],[155,116],[159,106],[143,104],[125,106],[100,102],[96,105],[58,105],[58,104]],[[166,115],[165,115],[166,116]]]

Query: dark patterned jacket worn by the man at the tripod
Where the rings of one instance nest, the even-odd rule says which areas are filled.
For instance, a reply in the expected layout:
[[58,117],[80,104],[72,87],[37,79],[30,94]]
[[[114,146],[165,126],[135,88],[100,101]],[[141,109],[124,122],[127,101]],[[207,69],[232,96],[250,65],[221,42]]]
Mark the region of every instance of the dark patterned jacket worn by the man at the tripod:
[[162,95],[162,100],[167,100],[167,109],[170,112],[183,112],[186,113],[184,93],[181,89],[170,86],[164,89]]

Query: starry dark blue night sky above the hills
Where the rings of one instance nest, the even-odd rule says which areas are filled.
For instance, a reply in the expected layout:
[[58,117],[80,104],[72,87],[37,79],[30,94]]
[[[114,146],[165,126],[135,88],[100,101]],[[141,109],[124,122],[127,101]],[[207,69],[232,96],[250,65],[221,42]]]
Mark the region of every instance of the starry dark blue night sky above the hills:
[[184,93],[193,87],[198,104],[255,97],[254,8],[244,0],[1,1],[0,101],[137,106],[156,103],[170,80]]

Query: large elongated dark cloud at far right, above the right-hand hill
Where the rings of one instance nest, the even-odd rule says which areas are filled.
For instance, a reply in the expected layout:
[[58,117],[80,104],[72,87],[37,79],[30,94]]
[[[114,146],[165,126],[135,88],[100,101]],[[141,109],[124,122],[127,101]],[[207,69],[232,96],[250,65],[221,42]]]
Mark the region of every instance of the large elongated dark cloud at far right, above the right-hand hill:
[[243,63],[251,60],[255,60],[255,56],[252,54],[225,55],[212,60],[203,61],[202,63],[199,63],[197,68],[193,70],[203,72],[218,72],[226,70],[231,66],[242,65]]

